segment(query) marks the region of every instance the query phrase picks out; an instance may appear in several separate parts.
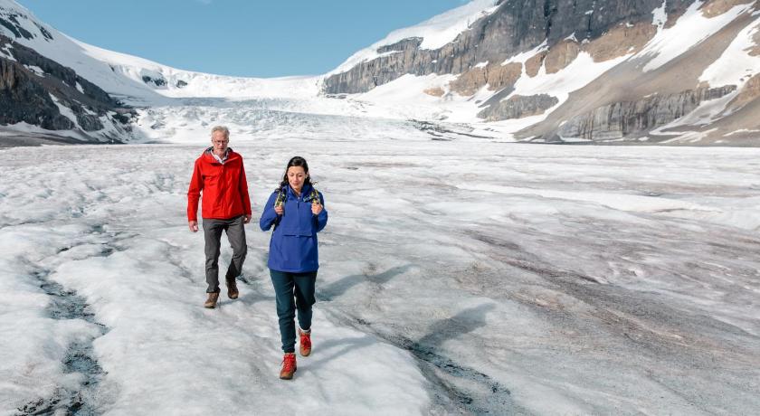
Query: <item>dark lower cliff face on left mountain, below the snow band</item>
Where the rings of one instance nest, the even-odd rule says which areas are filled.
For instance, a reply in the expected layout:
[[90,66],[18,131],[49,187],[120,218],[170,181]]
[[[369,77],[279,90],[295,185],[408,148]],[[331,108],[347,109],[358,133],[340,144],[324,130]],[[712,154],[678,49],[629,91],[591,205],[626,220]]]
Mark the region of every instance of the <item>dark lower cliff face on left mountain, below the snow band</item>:
[[134,111],[71,68],[2,35],[0,50],[4,52],[0,54],[0,124],[25,122],[48,130],[73,129],[84,137],[105,128],[104,120],[130,129]]

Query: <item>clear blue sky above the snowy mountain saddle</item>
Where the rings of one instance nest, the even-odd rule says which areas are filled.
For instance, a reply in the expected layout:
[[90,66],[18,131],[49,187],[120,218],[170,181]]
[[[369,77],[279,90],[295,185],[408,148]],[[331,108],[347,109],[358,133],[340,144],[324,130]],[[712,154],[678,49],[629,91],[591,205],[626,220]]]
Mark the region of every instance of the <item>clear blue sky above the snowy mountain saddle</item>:
[[324,73],[395,29],[466,0],[16,0],[85,43],[179,69]]

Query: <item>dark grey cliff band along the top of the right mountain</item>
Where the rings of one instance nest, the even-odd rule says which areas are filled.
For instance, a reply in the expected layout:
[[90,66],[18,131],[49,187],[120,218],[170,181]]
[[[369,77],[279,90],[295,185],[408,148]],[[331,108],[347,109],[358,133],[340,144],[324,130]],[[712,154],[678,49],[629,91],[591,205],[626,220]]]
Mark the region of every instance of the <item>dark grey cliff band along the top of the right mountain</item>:
[[[682,14],[692,1],[668,0],[665,12]],[[328,94],[366,92],[404,74],[460,74],[480,62],[500,63],[545,41],[549,47],[569,36],[578,42],[593,41],[619,24],[651,26],[652,10],[660,5],[661,0],[502,0],[495,12],[472,23],[442,48],[420,49],[420,38],[385,46],[377,52],[392,53],[328,77],[324,90]],[[621,35],[621,40],[625,38]]]

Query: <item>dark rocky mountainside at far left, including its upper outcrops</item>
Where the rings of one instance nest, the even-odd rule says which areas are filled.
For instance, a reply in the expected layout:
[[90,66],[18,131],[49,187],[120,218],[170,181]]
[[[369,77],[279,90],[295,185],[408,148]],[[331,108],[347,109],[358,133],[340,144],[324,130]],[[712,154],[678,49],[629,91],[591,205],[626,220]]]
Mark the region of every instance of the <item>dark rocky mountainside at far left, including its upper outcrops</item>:
[[45,141],[121,142],[128,137],[134,109],[124,106],[77,71],[16,42],[39,37],[52,42],[41,24],[34,32],[14,8],[0,4],[0,125],[15,125],[19,134],[42,135]]

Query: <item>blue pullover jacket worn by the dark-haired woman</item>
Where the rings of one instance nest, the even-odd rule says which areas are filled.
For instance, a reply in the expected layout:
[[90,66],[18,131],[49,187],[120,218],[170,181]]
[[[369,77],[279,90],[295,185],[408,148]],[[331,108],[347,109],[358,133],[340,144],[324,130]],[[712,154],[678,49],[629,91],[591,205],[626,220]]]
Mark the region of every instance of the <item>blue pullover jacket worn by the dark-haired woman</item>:
[[270,269],[290,273],[303,273],[319,269],[317,251],[317,232],[322,231],[328,223],[328,210],[324,208],[325,199],[319,194],[322,212],[319,215],[311,213],[310,184],[304,185],[301,195],[296,196],[288,186],[286,200],[283,205],[284,213],[274,212],[274,202],[278,192],[270,195],[269,201],[261,213],[259,226],[261,231],[271,233],[270,257],[267,265]]

